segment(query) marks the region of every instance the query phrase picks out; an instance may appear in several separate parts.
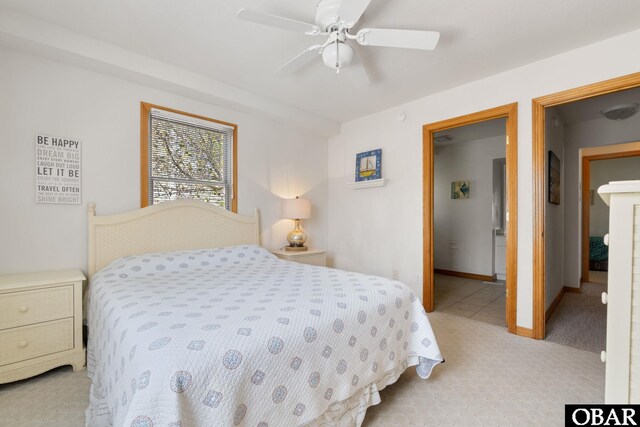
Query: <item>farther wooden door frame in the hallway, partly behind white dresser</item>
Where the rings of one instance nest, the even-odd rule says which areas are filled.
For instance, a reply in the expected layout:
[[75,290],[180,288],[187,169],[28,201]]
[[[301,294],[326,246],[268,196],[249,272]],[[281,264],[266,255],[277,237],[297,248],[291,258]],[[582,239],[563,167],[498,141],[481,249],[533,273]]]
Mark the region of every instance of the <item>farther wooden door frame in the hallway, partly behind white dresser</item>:
[[[590,199],[591,199],[591,161],[621,159],[624,157],[640,156],[638,142],[628,142],[624,144],[614,144],[600,147],[588,147],[580,153],[580,163],[582,164],[582,238],[580,241],[580,284],[589,281],[589,229],[591,220]],[[596,148],[597,150],[594,150]]]

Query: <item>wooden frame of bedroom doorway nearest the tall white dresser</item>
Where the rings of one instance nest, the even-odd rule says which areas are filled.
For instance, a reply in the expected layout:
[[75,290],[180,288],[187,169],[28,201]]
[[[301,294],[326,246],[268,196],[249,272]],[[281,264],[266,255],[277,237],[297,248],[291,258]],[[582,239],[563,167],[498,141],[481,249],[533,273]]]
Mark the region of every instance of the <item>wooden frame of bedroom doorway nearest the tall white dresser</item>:
[[533,338],[545,336],[545,110],[582,99],[640,87],[640,73],[568,89],[533,99]]

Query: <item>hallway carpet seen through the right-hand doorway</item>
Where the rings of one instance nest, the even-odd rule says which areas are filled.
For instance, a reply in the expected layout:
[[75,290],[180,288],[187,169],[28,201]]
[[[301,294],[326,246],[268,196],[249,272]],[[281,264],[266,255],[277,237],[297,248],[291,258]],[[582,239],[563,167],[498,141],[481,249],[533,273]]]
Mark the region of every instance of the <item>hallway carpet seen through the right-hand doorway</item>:
[[583,283],[580,293],[567,292],[547,322],[545,340],[600,354],[607,337],[607,285]]

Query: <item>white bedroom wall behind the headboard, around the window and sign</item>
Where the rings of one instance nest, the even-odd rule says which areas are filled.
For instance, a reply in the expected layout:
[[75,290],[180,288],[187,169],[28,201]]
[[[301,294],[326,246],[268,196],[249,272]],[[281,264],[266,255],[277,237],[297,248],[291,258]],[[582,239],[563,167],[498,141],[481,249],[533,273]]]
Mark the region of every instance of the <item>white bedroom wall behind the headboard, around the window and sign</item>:
[[[262,243],[293,223],[280,197],[304,195],[309,244],[326,247],[326,139],[97,72],[0,47],[0,273],[86,271],[86,203],[98,214],[139,208],[140,102],[238,124],[238,210],[260,209]],[[35,203],[35,135],[82,141],[82,205]]]

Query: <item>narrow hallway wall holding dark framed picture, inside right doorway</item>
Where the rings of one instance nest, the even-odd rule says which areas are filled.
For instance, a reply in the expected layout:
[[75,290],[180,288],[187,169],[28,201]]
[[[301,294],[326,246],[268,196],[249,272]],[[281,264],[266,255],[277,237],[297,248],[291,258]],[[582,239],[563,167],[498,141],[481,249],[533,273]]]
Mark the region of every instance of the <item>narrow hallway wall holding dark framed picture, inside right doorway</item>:
[[[555,119],[555,120],[554,120]],[[560,159],[560,204],[549,203],[549,150]],[[545,310],[564,287],[564,213],[565,197],[564,125],[551,111],[545,120]]]

